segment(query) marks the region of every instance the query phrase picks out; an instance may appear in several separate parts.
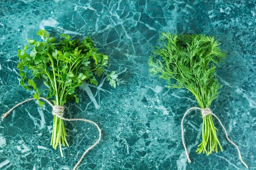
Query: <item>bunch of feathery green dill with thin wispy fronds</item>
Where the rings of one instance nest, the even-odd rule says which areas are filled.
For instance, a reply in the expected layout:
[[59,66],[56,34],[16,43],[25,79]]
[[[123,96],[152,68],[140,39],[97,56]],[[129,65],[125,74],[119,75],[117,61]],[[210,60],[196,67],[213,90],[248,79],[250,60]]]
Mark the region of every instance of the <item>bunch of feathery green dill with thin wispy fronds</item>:
[[[201,108],[209,108],[221,88],[215,71],[218,62],[225,57],[218,47],[220,43],[213,37],[196,34],[162,33],[160,40],[164,44],[156,47],[155,55],[148,62],[150,73],[167,79],[168,88],[188,89]],[[161,60],[154,62],[156,56]],[[218,152],[218,146],[222,151],[216,130],[211,115],[204,117],[198,153]]]

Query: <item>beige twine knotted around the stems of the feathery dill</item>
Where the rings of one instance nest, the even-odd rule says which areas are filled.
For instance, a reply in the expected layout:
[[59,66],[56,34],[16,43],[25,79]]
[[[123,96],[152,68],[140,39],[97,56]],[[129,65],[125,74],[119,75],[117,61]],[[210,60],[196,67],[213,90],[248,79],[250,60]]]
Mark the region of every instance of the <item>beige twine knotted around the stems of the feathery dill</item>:
[[186,149],[186,144],[184,142],[184,130],[183,130],[183,121],[186,117],[186,115],[191,111],[191,110],[201,110],[202,112],[202,118],[206,117],[207,115],[213,115],[214,117],[216,117],[216,119],[220,122],[220,125],[222,126],[223,130],[225,131],[225,134],[226,134],[226,138],[227,140],[233,144],[234,146],[236,146],[236,149],[238,151],[238,155],[239,155],[239,159],[240,161],[245,165],[246,168],[248,168],[247,164],[243,161],[242,159],[242,156],[241,156],[241,153],[240,153],[240,150],[238,148],[238,146],[229,139],[228,135],[227,135],[227,130],[225,129],[225,127],[223,126],[223,124],[221,123],[220,119],[214,114],[211,112],[211,109],[210,108],[199,108],[199,107],[192,107],[192,108],[189,108],[189,110],[186,111],[186,113],[184,114],[183,118],[182,118],[182,121],[181,121],[181,132],[182,132],[182,144],[185,148],[185,153],[186,153],[186,157],[188,158],[188,162],[191,163],[191,160],[189,159],[189,153]]

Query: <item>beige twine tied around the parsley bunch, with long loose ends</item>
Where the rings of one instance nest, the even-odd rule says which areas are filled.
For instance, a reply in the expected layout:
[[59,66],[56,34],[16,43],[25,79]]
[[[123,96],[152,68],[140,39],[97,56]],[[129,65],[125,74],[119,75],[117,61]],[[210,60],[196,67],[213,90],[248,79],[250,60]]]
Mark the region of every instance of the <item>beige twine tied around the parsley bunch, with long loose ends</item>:
[[[62,119],[62,120],[65,120],[65,121],[76,121],[76,120],[79,120],[79,121],[85,121],[85,122],[89,122],[93,125],[95,125],[98,130],[99,130],[99,139],[92,145],[90,146],[87,150],[85,150],[85,152],[83,153],[82,157],[80,158],[80,160],[76,163],[76,165],[74,166],[73,170],[75,170],[79,164],[81,163],[81,161],[83,160],[83,157],[85,156],[85,154],[91,150],[92,148],[94,148],[94,146],[96,146],[97,144],[99,144],[99,141],[101,140],[101,129],[99,128],[99,126],[94,122],[94,121],[90,121],[90,120],[87,120],[87,119],[67,119],[67,118],[64,118],[63,117],[63,114],[64,114],[64,106],[54,106],[49,100],[45,99],[44,97],[40,97],[40,99],[43,99],[45,100],[49,105],[52,106],[52,114],[53,115],[56,115],[58,118]],[[2,121],[4,120],[5,117],[7,117],[7,115],[9,115],[16,107],[22,105],[23,103],[25,102],[29,102],[31,100],[35,100],[34,98],[31,98],[31,99],[27,99],[23,102],[20,102],[18,104],[16,104],[16,106],[14,106],[13,108],[11,108],[7,113],[4,113],[2,115]]]

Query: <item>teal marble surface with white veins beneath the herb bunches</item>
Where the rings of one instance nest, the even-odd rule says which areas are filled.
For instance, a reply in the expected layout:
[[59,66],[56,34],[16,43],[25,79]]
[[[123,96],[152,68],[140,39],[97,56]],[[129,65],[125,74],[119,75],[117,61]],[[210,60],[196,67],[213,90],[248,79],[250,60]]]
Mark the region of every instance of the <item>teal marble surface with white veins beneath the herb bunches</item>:
[[[220,125],[223,152],[196,154],[202,119],[192,112],[185,121],[187,163],[181,142],[184,112],[197,106],[186,90],[166,89],[148,73],[148,57],[161,31],[215,35],[227,51],[217,69],[223,87],[212,104],[238,144],[250,170],[256,170],[256,2],[254,0],[1,0],[0,112],[32,96],[18,84],[16,51],[38,29],[72,38],[91,36],[110,56],[119,74],[116,89],[101,80],[84,84],[80,103],[68,102],[65,117],[95,121],[103,137],[80,170],[243,170],[236,148]],[[1,170],[71,170],[98,137],[91,124],[66,122],[70,148],[64,157],[50,146],[53,117],[48,105],[23,104],[0,123]]]

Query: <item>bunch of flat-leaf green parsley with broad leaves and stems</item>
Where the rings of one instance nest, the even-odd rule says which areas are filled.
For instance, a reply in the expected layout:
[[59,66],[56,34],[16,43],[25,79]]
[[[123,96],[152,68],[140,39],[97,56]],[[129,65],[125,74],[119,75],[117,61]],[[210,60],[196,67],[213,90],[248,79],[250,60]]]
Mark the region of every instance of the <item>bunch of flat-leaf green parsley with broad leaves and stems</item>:
[[[97,51],[89,37],[79,42],[70,40],[67,34],[61,34],[61,40],[56,42],[56,38],[50,37],[45,30],[39,30],[37,35],[43,41],[27,40],[28,44],[18,50],[20,61],[17,67],[20,70],[20,85],[28,90],[31,90],[29,86],[34,89],[33,97],[38,99],[40,106],[44,102],[39,97],[45,91],[47,99],[54,96],[54,105],[63,106],[69,99],[76,99],[78,103],[76,87],[81,86],[83,81],[97,85],[96,77],[103,75],[107,76],[106,80],[111,86],[116,87],[115,71],[106,71],[108,56]],[[34,79],[42,79],[46,88],[39,91],[40,81]],[[51,145],[54,149],[60,147],[61,156],[61,143],[69,146],[66,136],[63,120],[54,115]]]

